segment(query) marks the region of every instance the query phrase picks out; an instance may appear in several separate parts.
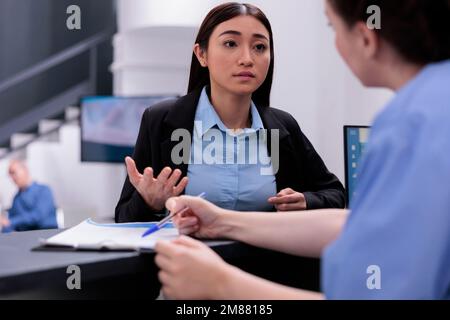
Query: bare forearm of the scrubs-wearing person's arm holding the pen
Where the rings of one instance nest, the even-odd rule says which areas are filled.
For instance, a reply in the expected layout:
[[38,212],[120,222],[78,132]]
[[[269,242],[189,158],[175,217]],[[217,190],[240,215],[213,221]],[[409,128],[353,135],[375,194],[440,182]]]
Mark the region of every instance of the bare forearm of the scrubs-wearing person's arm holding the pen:
[[226,238],[288,254],[320,257],[347,219],[342,209],[287,213],[227,211],[219,218]]

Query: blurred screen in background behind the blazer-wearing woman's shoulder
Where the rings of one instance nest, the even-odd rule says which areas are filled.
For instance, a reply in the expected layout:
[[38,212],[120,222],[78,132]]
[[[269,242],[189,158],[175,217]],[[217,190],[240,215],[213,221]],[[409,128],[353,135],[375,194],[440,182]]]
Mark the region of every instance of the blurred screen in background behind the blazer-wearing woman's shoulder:
[[176,97],[83,97],[81,161],[123,163],[133,153],[145,109]]

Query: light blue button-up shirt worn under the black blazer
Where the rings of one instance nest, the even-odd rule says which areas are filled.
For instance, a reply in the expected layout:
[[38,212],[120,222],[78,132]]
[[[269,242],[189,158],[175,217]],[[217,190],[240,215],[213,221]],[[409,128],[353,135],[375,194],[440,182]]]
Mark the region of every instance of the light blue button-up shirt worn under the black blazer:
[[226,209],[273,210],[267,199],[276,194],[276,181],[260,134],[264,126],[253,102],[250,112],[251,128],[233,134],[203,89],[195,114],[187,195],[206,192],[207,200]]

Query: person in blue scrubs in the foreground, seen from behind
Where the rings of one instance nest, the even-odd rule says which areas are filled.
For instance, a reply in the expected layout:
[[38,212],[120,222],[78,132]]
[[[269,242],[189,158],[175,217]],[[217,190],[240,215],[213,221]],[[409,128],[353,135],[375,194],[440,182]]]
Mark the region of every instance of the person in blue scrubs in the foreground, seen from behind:
[[[195,197],[171,198],[183,234],[231,238],[322,257],[322,293],[289,288],[226,264],[187,236],[159,242],[155,261],[171,298],[450,299],[450,3],[326,0],[336,46],[369,87],[396,96],[376,117],[349,212],[238,214]],[[370,11],[370,10],[369,10]]]

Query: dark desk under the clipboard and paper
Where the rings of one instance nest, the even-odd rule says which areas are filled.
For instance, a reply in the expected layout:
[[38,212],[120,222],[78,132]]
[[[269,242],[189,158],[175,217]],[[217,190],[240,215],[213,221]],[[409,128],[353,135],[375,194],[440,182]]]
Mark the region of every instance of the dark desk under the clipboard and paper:
[[[42,251],[40,238],[61,230],[0,234],[0,298],[136,298],[159,292],[154,252]],[[235,241],[206,241],[224,260],[287,285],[317,289],[320,261],[293,257]],[[70,265],[81,270],[82,289],[69,292]],[[30,293],[31,292],[31,293]],[[134,294],[134,295],[133,295]]]

